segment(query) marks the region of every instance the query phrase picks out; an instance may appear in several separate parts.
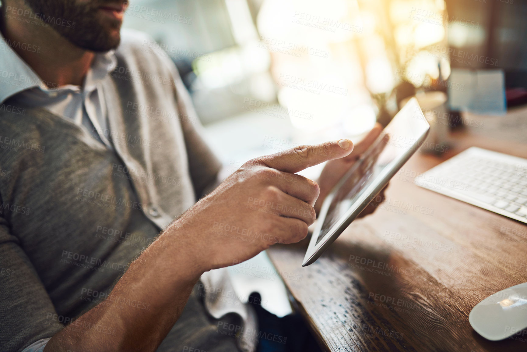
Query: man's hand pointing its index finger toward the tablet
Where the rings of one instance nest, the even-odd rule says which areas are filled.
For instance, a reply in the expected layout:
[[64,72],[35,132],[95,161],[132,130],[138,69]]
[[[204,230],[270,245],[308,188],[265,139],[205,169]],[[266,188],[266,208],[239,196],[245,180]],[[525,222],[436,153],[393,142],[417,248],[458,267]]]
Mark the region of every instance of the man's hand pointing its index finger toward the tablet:
[[315,221],[319,187],[295,173],[352,150],[352,142],[341,139],[249,160],[165,233],[194,243],[201,271],[245,261],[274,243],[298,242]]

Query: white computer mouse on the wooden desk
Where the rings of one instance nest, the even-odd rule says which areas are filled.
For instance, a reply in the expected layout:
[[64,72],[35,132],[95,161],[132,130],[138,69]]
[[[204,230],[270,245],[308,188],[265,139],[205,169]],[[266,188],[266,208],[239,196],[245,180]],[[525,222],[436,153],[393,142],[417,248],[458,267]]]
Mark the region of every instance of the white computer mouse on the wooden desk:
[[486,339],[497,341],[527,330],[527,282],[501,290],[472,308],[470,325]]

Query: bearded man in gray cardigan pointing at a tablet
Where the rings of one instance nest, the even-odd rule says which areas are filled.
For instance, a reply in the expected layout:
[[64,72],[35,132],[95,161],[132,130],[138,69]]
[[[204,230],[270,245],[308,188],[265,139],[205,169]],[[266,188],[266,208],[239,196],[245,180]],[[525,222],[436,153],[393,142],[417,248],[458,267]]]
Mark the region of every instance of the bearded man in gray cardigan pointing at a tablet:
[[[303,239],[379,127],[353,153],[347,139],[296,147],[214,189],[175,66],[143,34],[121,37],[126,5],[3,1],[0,349],[255,350],[255,310],[226,304],[211,270]],[[326,160],[320,186],[295,174]]]

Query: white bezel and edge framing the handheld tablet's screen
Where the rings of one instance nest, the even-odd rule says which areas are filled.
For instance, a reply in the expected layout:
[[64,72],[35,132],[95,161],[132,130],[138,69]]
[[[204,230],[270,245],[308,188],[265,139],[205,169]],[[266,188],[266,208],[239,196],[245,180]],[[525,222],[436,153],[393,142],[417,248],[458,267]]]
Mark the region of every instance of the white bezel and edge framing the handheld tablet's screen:
[[[331,192],[327,195],[320,209],[315,231],[313,231],[313,234],[311,235],[311,240],[309,241],[309,246],[306,250],[306,255],[304,256],[304,262],[302,263],[302,267],[306,267],[307,265],[313,264],[320,257],[320,255],[324,253],[324,251],[326,251],[326,249],[331,245],[331,243],[333,243],[337,239],[337,237],[346,229],[346,227],[348,227],[349,224],[352,223],[352,221],[355,220],[355,218],[364,210],[364,208],[368,206],[372,199],[374,199],[375,196],[379,194],[379,192],[388,184],[389,180],[393,176],[395,176],[397,171],[406,163],[406,161],[408,161],[408,159],[415,153],[419,146],[421,146],[423,141],[426,139],[426,136],[428,135],[428,131],[430,131],[430,125],[428,124],[428,121],[426,121],[421,107],[419,107],[419,104],[417,103],[417,99],[410,99],[405,104],[405,106],[395,115],[392,121],[397,123],[398,116],[404,116],[406,114],[413,115],[415,113],[419,115],[419,118],[417,120],[422,121],[423,127],[426,128],[424,129],[421,137],[417,138],[412,147],[408,148],[408,150],[404,154],[402,154],[401,157],[398,158],[397,163],[395,163],[391,168],[383,169],[382,172],[376,176],[374,182],[365,189],[364,194],[359,199],[357,199],[356,203],[352,207],[350,207],[349,210],[343,216],[339,218],[335,225],[331,226],[331,229],[328,231],[328,233],[323,237],[323,239],[320,240],[320,242],[317,243],[317,239],[322,229],[322,225],[326,220],[327,212],[331,205],[331,201],[333,201],[333,198],[335,197],[335,194],[337,193],[338,189],[346,182],[347,178],[350,176],[350,174],[355,171],[355,169],[358,167],[358,164],[360,163],[357,162],[354,166],[352,166],[352,168],[350,168],[348,172],[346,172],[346,174],[339,180],[335,187],[331,189]],[[413,117],[411,118],[415,118],[415,115],[413,115]],[[379,136],[379,138],[382,138],[382,136]],[[376,145],[377,143],[374,142],[374,144],[370,148],[373,148]],[[370,149],[368,149],[365,154],[368,153],[369,150]]]

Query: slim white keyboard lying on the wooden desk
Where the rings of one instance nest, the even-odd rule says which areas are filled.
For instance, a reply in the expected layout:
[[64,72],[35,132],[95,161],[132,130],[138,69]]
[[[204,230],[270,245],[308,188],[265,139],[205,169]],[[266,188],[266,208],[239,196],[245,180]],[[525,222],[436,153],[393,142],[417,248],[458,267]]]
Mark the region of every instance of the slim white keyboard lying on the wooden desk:
[[527,159],[472,147],[415,184],[527,224]]

